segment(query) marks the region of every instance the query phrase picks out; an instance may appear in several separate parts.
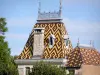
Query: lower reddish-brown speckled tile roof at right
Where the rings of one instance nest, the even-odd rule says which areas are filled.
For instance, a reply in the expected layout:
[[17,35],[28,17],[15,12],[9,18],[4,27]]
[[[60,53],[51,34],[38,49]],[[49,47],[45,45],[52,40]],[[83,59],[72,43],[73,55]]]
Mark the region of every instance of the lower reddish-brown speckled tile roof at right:
[[67,67],[100,65],[100,53],[93,47],[77,46],[68,56]]

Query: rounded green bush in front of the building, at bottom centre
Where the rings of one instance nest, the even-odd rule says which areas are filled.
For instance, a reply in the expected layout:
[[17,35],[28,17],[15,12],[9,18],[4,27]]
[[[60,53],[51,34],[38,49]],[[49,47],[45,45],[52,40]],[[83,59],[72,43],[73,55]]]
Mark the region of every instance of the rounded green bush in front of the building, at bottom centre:
[[37,62],[29,75],[66,75],[64,69],[45,62]]

